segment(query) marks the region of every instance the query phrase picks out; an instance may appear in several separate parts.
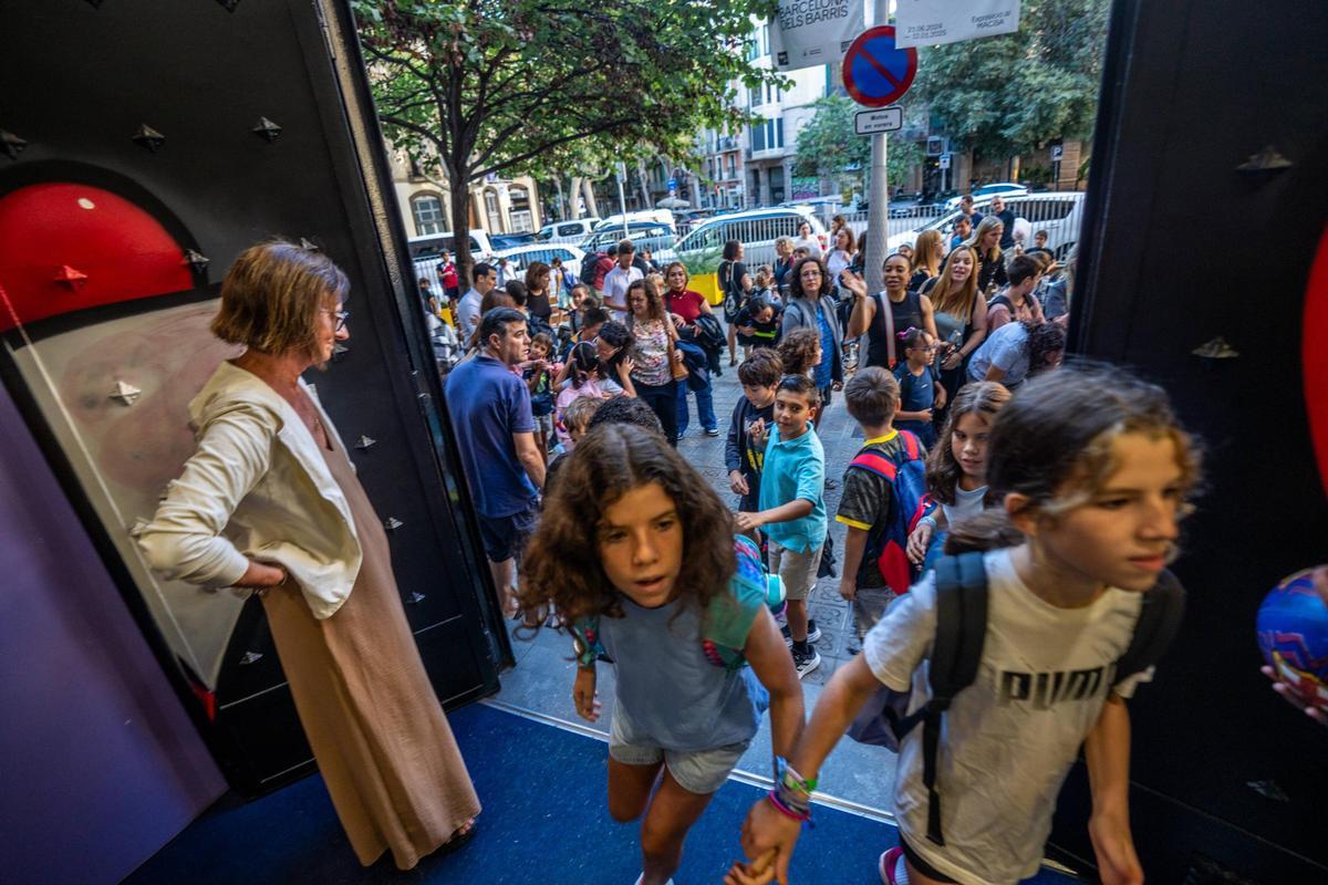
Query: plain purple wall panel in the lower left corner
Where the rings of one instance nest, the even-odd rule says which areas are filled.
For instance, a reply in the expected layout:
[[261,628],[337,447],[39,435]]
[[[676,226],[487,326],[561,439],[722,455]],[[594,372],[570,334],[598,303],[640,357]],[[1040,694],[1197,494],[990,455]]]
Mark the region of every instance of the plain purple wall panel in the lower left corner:
[[113,882],[224,789],[0,387],[0,880]]

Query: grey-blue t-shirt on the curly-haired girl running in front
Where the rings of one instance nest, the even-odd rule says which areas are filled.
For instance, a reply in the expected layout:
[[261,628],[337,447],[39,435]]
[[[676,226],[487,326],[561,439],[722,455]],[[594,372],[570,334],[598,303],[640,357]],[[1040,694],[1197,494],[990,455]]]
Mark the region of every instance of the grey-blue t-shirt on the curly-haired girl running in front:
[[647,609],[624,597],[623,613],[602,617],[599,633],[614,658],[614,715],[625,714],[618,727],[628,743],[693,752],[752,739],[769,697],[752,667],[728,673],[706,659],[695,604]]

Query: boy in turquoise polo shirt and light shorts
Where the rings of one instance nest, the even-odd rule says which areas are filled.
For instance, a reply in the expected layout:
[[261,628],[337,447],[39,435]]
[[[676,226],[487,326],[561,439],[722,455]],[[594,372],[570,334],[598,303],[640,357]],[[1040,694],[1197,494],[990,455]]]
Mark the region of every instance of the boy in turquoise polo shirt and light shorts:
[[801,679],[821,666],[811,647],[819,638],[807,620],[807,597],[817,584],[817,567],[826,540],[826,456],[811,422],[821,406],[814,381],[785,375],[774,393],[774,433],[765,444],[761,510],[738,513],[737,527],[761,528],[770,539],[772,571],[784,579],[789,600],[793,665]]

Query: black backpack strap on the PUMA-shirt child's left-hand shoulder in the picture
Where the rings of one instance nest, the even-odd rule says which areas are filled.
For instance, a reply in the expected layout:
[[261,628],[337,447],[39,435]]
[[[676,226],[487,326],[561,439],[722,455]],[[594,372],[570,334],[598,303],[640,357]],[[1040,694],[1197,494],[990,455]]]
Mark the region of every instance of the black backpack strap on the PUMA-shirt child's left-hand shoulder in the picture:
[[940,718],[977,678],[987,638],[987,567],[977,552],[936,561],[936,638],[927,665],[931,699],[922,710],[922,782],[927,787],[927,839],[946,844],[936,789]]

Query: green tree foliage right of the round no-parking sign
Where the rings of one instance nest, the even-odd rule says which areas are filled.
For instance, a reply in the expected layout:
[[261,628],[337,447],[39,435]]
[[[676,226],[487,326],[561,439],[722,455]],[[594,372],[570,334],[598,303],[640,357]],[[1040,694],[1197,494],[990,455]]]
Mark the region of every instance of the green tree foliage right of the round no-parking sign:
[[1019,32],[922,50],[915,97],[983,157],[1088,138],[1110,0],[1024,0]]

